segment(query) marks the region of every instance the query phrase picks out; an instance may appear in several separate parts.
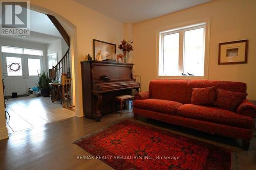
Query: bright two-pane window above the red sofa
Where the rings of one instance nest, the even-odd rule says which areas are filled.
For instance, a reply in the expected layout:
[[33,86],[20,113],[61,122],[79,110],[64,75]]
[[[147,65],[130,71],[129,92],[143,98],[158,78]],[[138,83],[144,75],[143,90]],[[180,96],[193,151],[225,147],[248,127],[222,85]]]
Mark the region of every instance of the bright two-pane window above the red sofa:
[[158,76],[204,76],[206,23],[159,33]]

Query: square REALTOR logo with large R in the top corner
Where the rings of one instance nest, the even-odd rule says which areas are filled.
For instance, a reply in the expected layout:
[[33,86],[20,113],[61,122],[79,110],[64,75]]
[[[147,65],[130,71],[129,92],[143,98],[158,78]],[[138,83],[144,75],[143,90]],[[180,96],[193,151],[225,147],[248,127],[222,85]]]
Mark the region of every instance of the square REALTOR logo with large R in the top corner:
[[1,2],[1,35],[29,35],[30,2],[29,1],[0,1]]

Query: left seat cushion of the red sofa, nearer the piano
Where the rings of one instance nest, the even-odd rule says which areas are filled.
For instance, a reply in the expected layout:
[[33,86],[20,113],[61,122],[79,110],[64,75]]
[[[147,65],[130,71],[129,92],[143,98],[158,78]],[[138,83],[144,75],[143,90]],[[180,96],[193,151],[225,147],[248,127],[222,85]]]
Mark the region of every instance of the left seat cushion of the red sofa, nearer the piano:
[[166,101],[160,99],[145,99],[134,101],[134,107],[136,108],[152,110],[171,115],[176,115],[176,111],[181,105],[182,104],[179,102]]

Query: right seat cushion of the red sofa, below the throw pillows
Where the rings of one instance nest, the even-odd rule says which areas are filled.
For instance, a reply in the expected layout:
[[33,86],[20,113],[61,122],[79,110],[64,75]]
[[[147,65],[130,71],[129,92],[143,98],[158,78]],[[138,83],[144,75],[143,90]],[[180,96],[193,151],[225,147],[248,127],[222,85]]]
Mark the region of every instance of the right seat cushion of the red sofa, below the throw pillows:
[[253,127],[253,119],[251,117],[217,107],[185,104],[179,107],[177,115],[232,127],[246,129]]

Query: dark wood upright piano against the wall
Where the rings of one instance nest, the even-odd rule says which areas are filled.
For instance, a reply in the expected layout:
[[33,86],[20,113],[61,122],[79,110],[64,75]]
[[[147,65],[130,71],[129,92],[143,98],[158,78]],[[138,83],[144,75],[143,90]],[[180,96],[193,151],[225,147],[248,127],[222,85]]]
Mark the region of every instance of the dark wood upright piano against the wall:
[[139,91],[140,84],[133,79],[131,63],[82,61],[83,114],[100,121],[101,115],[113,112],[115,96]]

